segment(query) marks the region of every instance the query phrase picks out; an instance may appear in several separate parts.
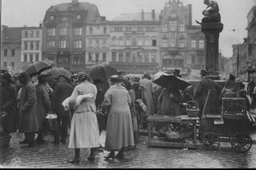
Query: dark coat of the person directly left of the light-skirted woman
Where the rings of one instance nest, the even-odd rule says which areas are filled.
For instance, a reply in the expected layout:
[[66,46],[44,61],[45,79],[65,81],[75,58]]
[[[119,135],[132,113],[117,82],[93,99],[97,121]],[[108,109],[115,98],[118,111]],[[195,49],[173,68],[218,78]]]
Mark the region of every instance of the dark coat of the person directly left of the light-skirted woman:
[[70,112],[64,111],[62,102],[65,101],[67,97],[70,97],[72,92],[73,87],[69,83],[59,82],[55,85],[51,99],[51,109],[58,115],[58,117],[70,115]]

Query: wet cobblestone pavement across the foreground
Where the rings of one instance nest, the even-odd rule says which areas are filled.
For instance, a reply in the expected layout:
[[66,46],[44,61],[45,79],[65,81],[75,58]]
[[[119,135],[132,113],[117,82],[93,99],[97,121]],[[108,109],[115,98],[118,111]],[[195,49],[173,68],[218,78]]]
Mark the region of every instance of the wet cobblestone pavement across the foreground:
[[104,160],[107,152],[99,152],[93,163],[86,160],[89,149],[82,149],[82,162],[68,164],[74,150],[67,144],[54,146],[52,136],[46,136],[46,144],[34,148],[20,148],[22,134],[12,134],[10,147],[0,152],[2,168],[256,168],[256,147],[247,153],[235,153],[230,144],[221,144],[218,151],[205,149],[184,150],[172,148],[148,148],[142,136],[140,144],[126,152],[124,160]]

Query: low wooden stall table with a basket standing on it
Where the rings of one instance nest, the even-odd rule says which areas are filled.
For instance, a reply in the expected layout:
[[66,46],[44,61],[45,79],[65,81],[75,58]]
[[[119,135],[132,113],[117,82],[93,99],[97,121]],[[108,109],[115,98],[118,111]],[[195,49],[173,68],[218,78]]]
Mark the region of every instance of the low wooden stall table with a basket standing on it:
[[[152,115],[147,118],[148,121],[148,146],[150,147],[164,147],[164,148],[198,148],[197,144],[197,128],[199,118],[198,117],[188,117],[187,115],[180,117],[170,117],[170,116],[160,116]],[[194,128],[193,143],[178,143],[178,142],[166,142],[161,140],[153,140],[153,125],[154,122],[169,122],[169,123],[185,123],[192,124]]]

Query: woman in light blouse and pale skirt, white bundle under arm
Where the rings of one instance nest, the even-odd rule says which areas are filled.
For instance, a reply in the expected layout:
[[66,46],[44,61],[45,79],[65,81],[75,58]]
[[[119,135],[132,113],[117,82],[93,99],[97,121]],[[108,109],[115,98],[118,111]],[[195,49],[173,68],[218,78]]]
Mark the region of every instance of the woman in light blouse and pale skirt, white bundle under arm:
[[[87,80],[89,76],[81,73],[78,81],[81,82],[74,88],[70,97],[70,109],[74,112],[70,125],[70,144],[69,148],[74,148],[74,160],[69,160],[71,164],[80,162],[80,149],[90,148],[90,156],[87,160],[93,161],[95,151],[99,147],[99,130],[96,117],[95,98],[97,96],[97,88]],[[81,101],[80,105],[75,106],[78,95],[92,94]]]

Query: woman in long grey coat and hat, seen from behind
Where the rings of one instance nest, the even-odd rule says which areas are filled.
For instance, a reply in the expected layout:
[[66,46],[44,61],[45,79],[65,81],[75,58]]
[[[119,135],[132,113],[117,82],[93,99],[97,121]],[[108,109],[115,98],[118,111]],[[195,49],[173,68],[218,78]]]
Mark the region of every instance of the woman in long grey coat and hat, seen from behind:
[[[110,89],[105,94],[103,107],[109,110],[106,123],[106,159],[123,158],[124,149],[134,147],[134,130],[130,115],[130,95],[121,85],[118,76],[110,77]],[[114,152],[119,151],[117,156]]]

